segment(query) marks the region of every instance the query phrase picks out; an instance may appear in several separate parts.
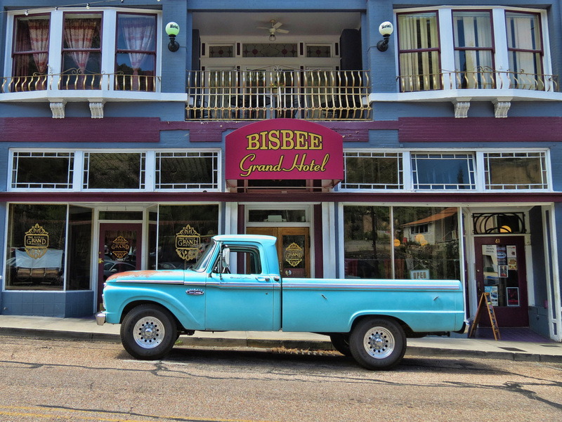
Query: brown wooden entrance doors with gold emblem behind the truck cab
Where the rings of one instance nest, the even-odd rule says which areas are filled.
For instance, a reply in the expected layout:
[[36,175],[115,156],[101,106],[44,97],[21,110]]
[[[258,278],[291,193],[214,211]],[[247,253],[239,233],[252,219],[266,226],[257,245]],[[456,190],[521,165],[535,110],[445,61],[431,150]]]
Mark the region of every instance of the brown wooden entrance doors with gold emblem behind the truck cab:
[[311,277],[311,239],[308,227],[248,227],[249,235],[277,237],[277,261],[282,277]]

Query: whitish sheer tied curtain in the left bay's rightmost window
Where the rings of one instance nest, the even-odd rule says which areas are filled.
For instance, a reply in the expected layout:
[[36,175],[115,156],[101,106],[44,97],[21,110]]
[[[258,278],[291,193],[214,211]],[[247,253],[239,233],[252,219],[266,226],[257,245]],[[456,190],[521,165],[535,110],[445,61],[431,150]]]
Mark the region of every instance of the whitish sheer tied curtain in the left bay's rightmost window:
[[141,70],[143,62],[148,58],[149,54],[139,53],[139,51],[150,51],[154,48],[156,27],[153,18],[120,18],[123,26],[123,35],[127,50],[134,52],[129,53],[131,67],[133,68],[133,91],[138,90],[138,71]]

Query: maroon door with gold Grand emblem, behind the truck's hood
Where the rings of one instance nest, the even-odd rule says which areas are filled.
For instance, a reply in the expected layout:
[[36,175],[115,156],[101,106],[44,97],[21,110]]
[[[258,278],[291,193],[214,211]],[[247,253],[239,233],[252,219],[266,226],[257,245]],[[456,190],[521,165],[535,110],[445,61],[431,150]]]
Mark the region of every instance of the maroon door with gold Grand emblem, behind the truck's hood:
[[98,248],[98,302],[102,306],[103,283],[118,272],[141,270],[141,223],[101,223]]

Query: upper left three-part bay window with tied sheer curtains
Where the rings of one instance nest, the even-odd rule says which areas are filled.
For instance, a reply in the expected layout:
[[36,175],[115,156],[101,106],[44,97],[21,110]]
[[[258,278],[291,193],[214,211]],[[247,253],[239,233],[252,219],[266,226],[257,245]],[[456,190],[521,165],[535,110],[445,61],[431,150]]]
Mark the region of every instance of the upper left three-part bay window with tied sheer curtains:
[[1,92],[158,91],[159,15],[115,8],[15,15]]

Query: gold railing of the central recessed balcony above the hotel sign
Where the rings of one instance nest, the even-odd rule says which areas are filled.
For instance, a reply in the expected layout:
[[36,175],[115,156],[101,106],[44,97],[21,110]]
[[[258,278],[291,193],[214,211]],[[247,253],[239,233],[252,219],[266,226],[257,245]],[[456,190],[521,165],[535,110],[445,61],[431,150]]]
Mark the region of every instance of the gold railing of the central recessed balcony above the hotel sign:
[[188,120],[367,120],[367,71],[188,72]]

